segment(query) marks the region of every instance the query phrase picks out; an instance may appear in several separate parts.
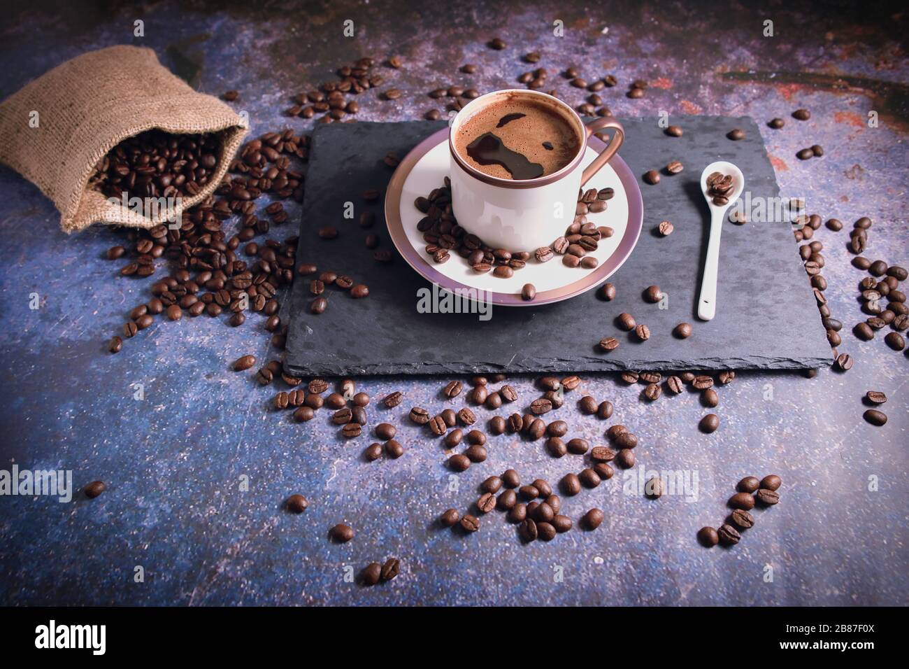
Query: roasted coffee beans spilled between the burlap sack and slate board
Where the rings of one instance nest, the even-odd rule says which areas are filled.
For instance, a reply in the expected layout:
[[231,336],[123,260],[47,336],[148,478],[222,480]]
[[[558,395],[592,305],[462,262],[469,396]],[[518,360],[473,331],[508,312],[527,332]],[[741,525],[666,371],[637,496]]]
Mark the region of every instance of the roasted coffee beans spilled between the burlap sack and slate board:
[[[272,333],[275,346],[284,347],[286,325],[277,315],[276,294],[293,282],[297,238],[266,239],[262,244],[252,240],[267,234],[272,224],[285,223],[282,199],[303,198],[303,175],[291,168],[290,161],[291,157],[305,160],[308,144],[308,137],[296,136],[290,129],[248,141],[231,161],[230,174],[215,195],[185,210],[179,225],[131,229],[125,233],[131,250],[108,249],[109,259],[129,259],[120,270],[125,277],[152,276],[159,258],[170,260],[172,267],[165,279],[153,284],[152,298],[130,311],[123,327],[125,338],[149,328],[161,314],[179,320],[184,313],[213,318],[227,313],[226,322],[238,327],[247,313],[257,311],[265,316],[265,330]],[[255,200],[266,193],[273,201],[265,208],[267,218],[258,218]],[[222,225],[235,217],[239,217],[239,229],[228,237]],[[248,261],[237,253],[244,243]],[[120,336],[108,343],[111,352],[122,348]]]

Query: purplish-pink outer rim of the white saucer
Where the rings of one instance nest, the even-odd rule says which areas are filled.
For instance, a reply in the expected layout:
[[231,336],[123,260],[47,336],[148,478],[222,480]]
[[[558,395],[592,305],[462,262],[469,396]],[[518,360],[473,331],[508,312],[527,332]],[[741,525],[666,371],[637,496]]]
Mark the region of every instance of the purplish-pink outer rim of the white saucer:
[[[410,243],[404,229],[404,223],[401,220],[401,194],[404,192],[405,181],[411,170],[431,148],[447,141],[448,128],[444,127],[417,144],[395,169],[395,174],[392,175],[385,191],[385,225],[388,227],[388,234],[391,235],[398,253],[407,261],[408,265],[415,269],[417,274],[428,281],[438,284],[439,288],[453,291],[454,293],[462,290],[476,292],[478,289],[475,287],[445,276],[438,269],[435,269],[420,254],[419,249]],[[602,151],[605,143],[598,137],[592,136],[589,140],[589,146],[596,151]],[[520,292],[486,291],[493,304],[504,307],[534,307],[574,298],[575,295],[580,295],[587,290],[596,288],[606,279],[609,279],[615,273],[615,270],[622,267],[624,261],[628,259],[632,250],[634,250],[637,240],[641,236],[641,229],[644,227],[644,200],[641,198],[641,188],[637,185],[637,179],[621,157],[614,156],[609,161],[609,166],[614,169],[615,174],[619,177],[625,196],[628,198],[627,225],[625,226],[624,235],[613,254],[594,269],[589,271],[580,270],[584,272],[584,276],[580,279],[557,289],[538,292],[536,298],[531,300],[522,299]],[[460,259],[460,257],[457,257],[457,259]]]

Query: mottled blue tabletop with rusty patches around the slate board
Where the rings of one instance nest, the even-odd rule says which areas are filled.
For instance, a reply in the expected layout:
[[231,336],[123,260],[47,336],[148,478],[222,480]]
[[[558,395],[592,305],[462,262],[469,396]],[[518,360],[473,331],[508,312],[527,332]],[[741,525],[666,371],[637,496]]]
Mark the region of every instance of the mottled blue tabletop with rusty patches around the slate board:
[[[619,117],[663,110],[754,117],[784,195],[845,223],[843,232],[821,228],[816,238],[824,242],[827,299],[844,321],[839,349],[856,362],[848,373],[824,369],[813,380],[739,374],[720,389],[723,422],[712,435],[697,431],[706,411],[694,394],[648,405],[642,386],[585,377],[547,418],[604,443],[607,423],[580,416],[574,400],[612,400],[608,424],[624,423],[641,440],[634,476],[696,474],[696,499],[649,501],[619,472],[563,499],[575,524],[586,509],[604,509],[595,532],[575,528],[524,545],[494,512],[464,536],[439,529],[435,518],[449,507],[467,510],[486,476],[514,467],[525,481],[554,483],[579,471],[581,459],[554,460],[543,441],[500,436],[490,439],[487,461],[453,475],[440,444],[405,418],[414,405],[446,406],[447,379],[385,378],[358,380],[358,389],[374,398],[371,424],[390,417],[407,451],[367,463],[369,436],[342,441],[326,411],[309,423],[290,421],[270,410],[278,388],[260,388],[252,370],[229,370],[246,353],[280,357],[258,318],[238,329],[218,319],[158,320],[110,355],[106,340],[149,296],[150,281],[121,278],[119,263],[102,259],[122,233],[96,227],[67,237],[52,203],[0,168],[0,470],[71,470],[77,488],[96,479],[108,486],[95,500],[0,498],[0,603],[909,603],[907,360],[881,337],[852,335],[864,319],[856,301],[864,273],[850,266],[845,248],[854,219],[868,216],[865,255],[909,262],[904,15],[878,4],[817,15],[789,5],[761,12],[688,3],[179,5],[140,12],[114,4],[113,14],[14,9],[0,27],[0,98],[86,50],[139,44],[202,91],[239,90],[234,106],[249,113],[254,134],[301,132],[313,122],[283,115],[289,96],[358,56],[397,55],[405,64],[381,68],[384,87],[404,95],[385,101],[369,91],[358,98],[358,117],[405,120],[439,107],[426,95],[437,86],[514,86],[529,68],[520,55],[537,48],[551,72],[576,66],[588,78],[617,76],[619,86],[603,96]],[[142,38],[133,36],[137,19]],[[342,34],[346,19],[355,22],[354,38]],[[763,35],[765,19],[774,21],[773,37]],[[555,20],[564,22],[563,37],[553,35]],[[507,48],[484,46],[494,36]],[[476,75],[457,72],[467,62],[479,66]],[[647,95],[625,97],[638,77],[649,80]],[[850,77],[849,86],[838,85],[840,77]],[[554,80],[570,102],[583,101],[582,91]],[[810,122],[789,116],[799,106],[812,110]],[[878,127],[867,125],[871,110]],[[764,125],[772,117],[787,119],[783,130]],[[824,146],[822,159],[795,159],[813,144]],[[299,206],[288,209],[292,224],[273,231],[277,238],[295,234]],[[510,380],[522,407],[539,392],[533,381]],[[375,400],[392,390],[405,401],[378,408]],[[862,420],[866,390],[890,398],[884,427]],[[447,405],[460,408],[463,397]],[[485,421],[492,412],[477,414]],[[701,548],[694,533],[722,521],[735,482],[768,473],[783,478],[781,503],[756,512],[755,527],[733,549]],[[291,492],[310,500],[304,514],[283,511]],[[354,526],[352,542],[327,540],[336,522]],[[402,567],[391,583],[366,588],[345,578],[392,556]]]

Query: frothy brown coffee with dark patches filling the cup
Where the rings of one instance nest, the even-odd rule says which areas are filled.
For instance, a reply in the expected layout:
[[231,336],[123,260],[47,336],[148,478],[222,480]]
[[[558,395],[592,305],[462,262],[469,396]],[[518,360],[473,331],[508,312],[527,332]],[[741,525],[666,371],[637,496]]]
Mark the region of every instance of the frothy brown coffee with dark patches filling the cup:
[[490,177],[525,180],[558,172],[583,142],[572,119],[543,96],[509,95],[467,118],[454,150]]

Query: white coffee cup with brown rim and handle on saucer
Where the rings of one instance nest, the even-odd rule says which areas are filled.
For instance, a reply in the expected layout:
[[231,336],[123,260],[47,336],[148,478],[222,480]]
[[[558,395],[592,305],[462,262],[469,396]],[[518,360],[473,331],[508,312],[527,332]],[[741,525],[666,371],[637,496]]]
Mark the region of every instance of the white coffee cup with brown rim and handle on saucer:
[[[578,152],[558,171],[533,179],[492,177],[471,166],[454,150],[458,129],[486,106],[506,97],[533,97],[552,105],[574,127]],[[599,130],[614,130],[609,144],[588,167],[582,169],[587,139]],[[614,156],[624,141],[622,125],[613,117],[601,117],[584,125],[581,117],[561,100],[523,88],[494,91],[474,98],[464,106],[449,128],[452,209],[458,224],[493,248],[533,251],[546,247],[564,234],[574,219],[578,190]]]

